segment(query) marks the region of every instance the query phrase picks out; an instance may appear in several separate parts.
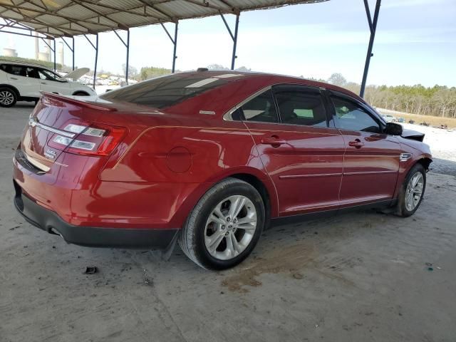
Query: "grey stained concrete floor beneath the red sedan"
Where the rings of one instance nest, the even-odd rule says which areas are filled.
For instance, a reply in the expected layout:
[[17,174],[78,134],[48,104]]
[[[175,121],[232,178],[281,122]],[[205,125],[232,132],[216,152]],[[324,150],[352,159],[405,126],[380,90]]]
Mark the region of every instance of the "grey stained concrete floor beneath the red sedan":
[[430,172],[408,219],[276,227],[204,271],[178,248],[77,247],[24,222],[11,155],[31,110],[0,108],[0,341],[456,341],[456,177]]

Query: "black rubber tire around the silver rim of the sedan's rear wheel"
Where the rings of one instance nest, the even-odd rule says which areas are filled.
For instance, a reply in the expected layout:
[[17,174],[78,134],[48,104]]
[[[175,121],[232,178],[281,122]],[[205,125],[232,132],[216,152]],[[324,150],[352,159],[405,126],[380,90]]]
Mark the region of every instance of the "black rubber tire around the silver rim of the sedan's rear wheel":
[[[212,255],[207,251],[204,243],[204,229],[206,227],[209,214],[212,213],[214,207],[219,204],[219,202],[222,202],[223,199],[233,195],[243,195],[252,201],[255,209],[257,210],[257,229],[255,230],[254,237],[252,238],[249,246],[244,249],[241,254],[233,259],[219,260],[212,257]],[[245,182],[239,182],[235,185],[229,185],[229,187],[223,187],[207,199],[207,201],[203,204],[202,210],[199,212],[197,219],[195,220],[195,257],[197,257],[198,261],[207,269],[227,269],[239,264],[249,256],[257,244],[259,237],[261,236],[261,232],[263,232],[264,229],[264,219],[265,211],[263,199],[261,199],[261,195],[259,195],[259,192],[252,187],[252,185]]]

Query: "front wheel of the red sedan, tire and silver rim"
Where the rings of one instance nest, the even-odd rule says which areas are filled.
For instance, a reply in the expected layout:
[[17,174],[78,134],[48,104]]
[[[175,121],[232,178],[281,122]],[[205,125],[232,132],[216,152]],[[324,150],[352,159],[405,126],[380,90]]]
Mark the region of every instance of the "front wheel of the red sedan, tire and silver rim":
[[405,177],[403,185],[400,187],[396,214],[401,217],[413,215],[418,207],[420,207],[423,196],[425,195],[425,189],[426,170],[423,165],[418,163],[413,165],[407,177]]

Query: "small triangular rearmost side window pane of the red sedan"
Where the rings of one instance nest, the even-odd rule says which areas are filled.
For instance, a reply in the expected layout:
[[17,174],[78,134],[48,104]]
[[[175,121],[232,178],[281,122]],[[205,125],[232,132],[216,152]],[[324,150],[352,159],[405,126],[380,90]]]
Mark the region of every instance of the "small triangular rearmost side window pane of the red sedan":
[[266,90],[264,93],[252,98],[252,100],[242,105],[237,112],[238,116],[234,116],[234,118],[259,123],[279,122],[271,90]]

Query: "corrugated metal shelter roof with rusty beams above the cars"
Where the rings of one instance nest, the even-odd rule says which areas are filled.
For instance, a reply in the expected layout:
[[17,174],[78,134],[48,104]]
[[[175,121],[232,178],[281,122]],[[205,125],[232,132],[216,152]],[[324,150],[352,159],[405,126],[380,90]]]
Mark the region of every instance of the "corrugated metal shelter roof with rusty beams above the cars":
[[0,0],[0,18],[51,37],[328,0]]

